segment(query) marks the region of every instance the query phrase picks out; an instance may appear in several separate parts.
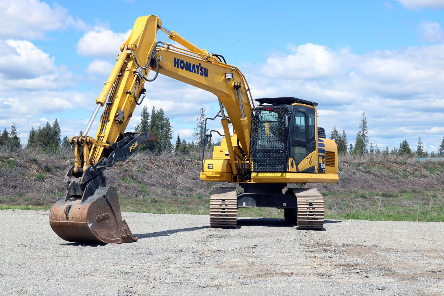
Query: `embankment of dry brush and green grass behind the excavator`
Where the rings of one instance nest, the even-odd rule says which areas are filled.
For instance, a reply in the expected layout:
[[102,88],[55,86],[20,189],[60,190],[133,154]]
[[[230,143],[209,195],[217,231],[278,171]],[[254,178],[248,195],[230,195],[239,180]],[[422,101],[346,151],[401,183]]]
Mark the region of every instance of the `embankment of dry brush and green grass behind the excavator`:
[[[64,192],[71,163],[69,151],[0,152],[0,209],[49,209]],[[106,175],[108,185],[119,190],[123,211],[206,215],[210,188],[221,184],[201,182],[199,168],[197,155],[139,154]],[[339,176],[336,184],[305,185],[325,196],[327,218],[444,221],[444,162],[345,156]],[[238,215],[283,217],[281,209],[264,208],[239,209]]]

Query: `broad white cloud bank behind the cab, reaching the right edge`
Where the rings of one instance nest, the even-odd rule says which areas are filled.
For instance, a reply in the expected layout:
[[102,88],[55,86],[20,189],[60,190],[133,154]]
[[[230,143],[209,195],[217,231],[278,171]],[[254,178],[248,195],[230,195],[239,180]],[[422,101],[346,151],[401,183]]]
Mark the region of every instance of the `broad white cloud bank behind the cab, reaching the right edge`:
[[[297,50],[274,54],[275,68],[270,59],[242,67],[244,73],[253,73],[247,78],[254,98],[295,96],[318,102],[320,126],[346,130],[349,142],[364,109],[373,143],[392,147],[407,138],[413,144],[421,136],[424,143],[439,144],[444,133],[440,128],[444,126],[443,44],[364,55],[310,43],[290,48]],[[299,54],[300,48],[312,48],[317,54]],[[334,63],[329,62],[331,57]],[[330,66],[317,67],[321,61]]]

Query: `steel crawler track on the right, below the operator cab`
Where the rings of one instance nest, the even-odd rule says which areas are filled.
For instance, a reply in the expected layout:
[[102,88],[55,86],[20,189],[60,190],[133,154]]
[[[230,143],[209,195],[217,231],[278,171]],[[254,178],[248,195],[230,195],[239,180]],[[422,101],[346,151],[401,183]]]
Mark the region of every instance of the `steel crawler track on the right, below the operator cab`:
[[297,209],[285,209],[285,220],[296,222],[296,229],[324,227],[324,197],[317,189],[291,188],[287,194],[297,198]]

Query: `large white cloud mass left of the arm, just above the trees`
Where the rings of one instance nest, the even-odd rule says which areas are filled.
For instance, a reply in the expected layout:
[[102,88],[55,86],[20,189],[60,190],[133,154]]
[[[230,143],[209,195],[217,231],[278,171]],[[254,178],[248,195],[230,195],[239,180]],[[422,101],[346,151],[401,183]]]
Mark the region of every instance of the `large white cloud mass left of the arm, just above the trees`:
[[[55,58],[33,43],[0,40],[0,51],[3,53],[0,56],[0,126],[9,129],[15,122],[22,143],[26,142],[32,127],[44,125],[47,118],[52,122],[52,114],[94,107],[96,94],[69,90],[75,85],[76,77],[66,66],[55,65]],[[75,129],[84,128],[83,117],[91,115],[83,115],[82,111],[75,114],[80,117],[72,120],[77,122]],[[65,119],[58,117],[66,135],[74,126],[62,124]]]

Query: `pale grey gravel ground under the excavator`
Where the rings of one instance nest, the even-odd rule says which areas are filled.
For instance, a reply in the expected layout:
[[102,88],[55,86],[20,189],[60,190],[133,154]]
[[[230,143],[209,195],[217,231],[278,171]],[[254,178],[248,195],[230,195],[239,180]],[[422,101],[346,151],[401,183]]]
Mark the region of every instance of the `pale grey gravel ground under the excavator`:
[[0,211],[0,295],[444,295],[444,222],[123,213],[139,241],[79,245],[48,211]]

